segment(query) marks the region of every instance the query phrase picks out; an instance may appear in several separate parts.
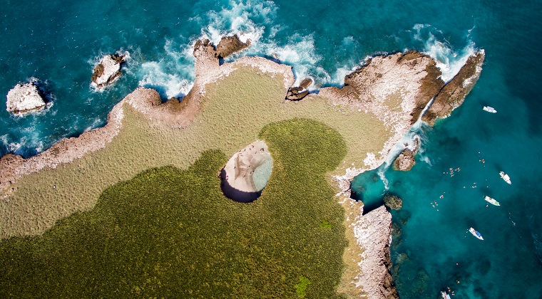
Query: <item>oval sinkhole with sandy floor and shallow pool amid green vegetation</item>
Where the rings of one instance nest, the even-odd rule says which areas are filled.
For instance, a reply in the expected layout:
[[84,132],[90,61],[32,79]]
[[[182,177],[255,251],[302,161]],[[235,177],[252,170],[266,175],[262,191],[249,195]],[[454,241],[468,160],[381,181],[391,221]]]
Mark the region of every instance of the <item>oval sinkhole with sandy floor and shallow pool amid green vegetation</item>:
[[262,140],[236,152],[220,172],[223,194],[233,201],[251,202],[262,194],[271,177],[273,159]]

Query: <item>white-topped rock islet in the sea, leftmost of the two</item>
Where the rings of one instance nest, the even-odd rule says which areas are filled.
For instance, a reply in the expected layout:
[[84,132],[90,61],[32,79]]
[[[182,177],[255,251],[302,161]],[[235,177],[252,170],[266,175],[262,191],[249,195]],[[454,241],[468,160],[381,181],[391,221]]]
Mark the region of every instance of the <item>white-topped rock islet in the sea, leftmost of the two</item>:
[[9,90],[6,110],[20,114],[45,107],[45,98],[34,83],[17,84]]

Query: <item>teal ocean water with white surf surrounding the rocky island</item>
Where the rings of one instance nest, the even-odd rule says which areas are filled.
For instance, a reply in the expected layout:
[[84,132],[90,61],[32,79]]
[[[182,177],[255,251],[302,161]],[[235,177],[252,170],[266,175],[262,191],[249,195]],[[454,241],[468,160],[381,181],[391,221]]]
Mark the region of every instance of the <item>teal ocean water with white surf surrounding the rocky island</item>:
[[[138,86],[164,100],[188,93],[191,47],[203,36],[240,33],[252,46],[239,55],[278,58],[298,78],[315,78],[315,89],[342,85],[369,56],[407,49],[436,58],[451,78],[483,48],[484,70],[464,105],[412,132],[422,144],[414,168],[384,166],[352,187],[365,190],[368,205],[384,192],[403,199],[392,243],[402,298],[436,298],[445,288],[453,298],[542,298],[542,1],[1,0],[0,7],[0,95],[39,80],[52,99],[26,117],[0,105],[0,154],[24,157],[103,126]],[[115,52],[129,55],[124,75],[94,90],[93,65]],[[484,195],[501,206],[486,206]]]

